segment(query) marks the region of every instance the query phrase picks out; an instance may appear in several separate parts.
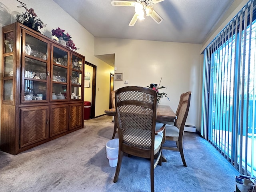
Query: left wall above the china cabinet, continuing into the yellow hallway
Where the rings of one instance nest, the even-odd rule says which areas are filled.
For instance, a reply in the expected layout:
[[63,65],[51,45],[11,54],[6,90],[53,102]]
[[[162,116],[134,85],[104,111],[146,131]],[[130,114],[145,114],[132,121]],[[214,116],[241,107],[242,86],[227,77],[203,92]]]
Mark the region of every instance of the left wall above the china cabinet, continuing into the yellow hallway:
[[[109,86],[110,86],[110,73],[114,73],[114,68],[106,64],[102,60],[94,56],[94,36],[83,28],[74,18],[69,16],[62,8],[60,8],[52,0],[22,0],[28,8],[33,8],[46,28],[40,29],[42,34],[50,37],[51,30],[60,27],[66,30],[71,37],[78,53],[85,56],[85,60],[97,66],[96,87],[96,106],[95,116],[100,116],[104,113],[105,109],[109,108]],[[25,12],[24,8],[18,8],[20,5],[16,0],[1,0],[0,3],[0,50],[2,50],[2,26],[11,23],[11,14],[16,11],[19,13]],[[0,62],[2,63],[2,51],[0,52]],[[2,76],[2,69],[0,69]]]

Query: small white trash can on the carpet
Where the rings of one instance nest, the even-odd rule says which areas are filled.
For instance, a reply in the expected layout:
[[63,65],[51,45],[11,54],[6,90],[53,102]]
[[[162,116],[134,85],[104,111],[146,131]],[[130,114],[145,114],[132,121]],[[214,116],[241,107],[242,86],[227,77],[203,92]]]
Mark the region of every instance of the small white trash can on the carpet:
[[117,166],[119,139],[112,139],[106,143],[107,158],[110,167]]

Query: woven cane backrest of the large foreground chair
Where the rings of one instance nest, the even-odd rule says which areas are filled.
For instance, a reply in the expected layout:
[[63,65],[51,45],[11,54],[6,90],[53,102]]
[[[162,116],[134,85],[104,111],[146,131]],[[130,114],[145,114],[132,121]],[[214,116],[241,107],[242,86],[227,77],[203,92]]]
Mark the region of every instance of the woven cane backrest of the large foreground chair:
[[127,86],[116,90],[115,95],[119,146],[124,152],[126,146],[154,152],[156,91]]

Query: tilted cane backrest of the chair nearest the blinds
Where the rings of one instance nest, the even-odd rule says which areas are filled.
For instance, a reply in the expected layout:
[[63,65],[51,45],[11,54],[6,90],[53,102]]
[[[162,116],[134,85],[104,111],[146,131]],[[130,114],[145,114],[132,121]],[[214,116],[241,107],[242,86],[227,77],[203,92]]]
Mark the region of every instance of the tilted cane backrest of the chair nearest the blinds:
[[176,112],[177,120],[174,122],[174,126],[176,126],[180,132],[184,131],[184,126],[188,117],[188,110],[190,106],[190,97],[191,91],[183,93],[180,96],[180,102]]

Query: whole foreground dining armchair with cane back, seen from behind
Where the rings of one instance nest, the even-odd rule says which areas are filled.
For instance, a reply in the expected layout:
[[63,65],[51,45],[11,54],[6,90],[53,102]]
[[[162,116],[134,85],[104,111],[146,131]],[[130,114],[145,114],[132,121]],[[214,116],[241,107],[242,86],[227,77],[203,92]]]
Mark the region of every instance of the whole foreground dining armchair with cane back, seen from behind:
[[[150,159],[150,186],[154,191],[154,168],[162,165],[165,124],[156,132],[157,93],[145,87],[119,88],[116,95],[116,120],[119,137],[118,162],[114,183],[118,180],[123,153]],[[156,160],[154,160],[154,156]]]

